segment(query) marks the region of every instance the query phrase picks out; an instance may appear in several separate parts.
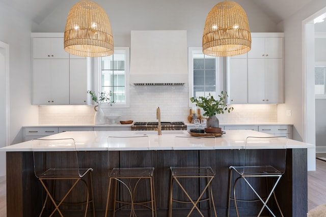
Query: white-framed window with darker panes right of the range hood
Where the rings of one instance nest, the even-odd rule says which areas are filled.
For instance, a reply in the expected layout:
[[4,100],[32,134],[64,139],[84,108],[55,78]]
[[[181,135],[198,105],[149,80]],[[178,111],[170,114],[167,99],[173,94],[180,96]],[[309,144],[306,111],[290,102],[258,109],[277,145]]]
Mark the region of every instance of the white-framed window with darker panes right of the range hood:
[[189,48],[188,63],[189,98],[216,98],[223,87],[222,57],[205,55],[201,47]]

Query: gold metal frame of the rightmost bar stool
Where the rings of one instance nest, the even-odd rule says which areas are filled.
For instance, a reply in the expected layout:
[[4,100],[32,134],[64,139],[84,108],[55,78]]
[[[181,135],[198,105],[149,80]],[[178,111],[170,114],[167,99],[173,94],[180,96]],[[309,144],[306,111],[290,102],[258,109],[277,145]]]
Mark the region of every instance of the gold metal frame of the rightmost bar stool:
[[[266,141],[268,139],[278,139],[278,138],[283,138],[285,139],[285,141],[281,141],[281,144],[284,144],[280,147],[280,149],[283,149],[283,160],[284,162],[282,165],[282,168],[276,168],[274,166],[271,165],[246,165],[246,150],[248,148],[248,140],[251,139],[258,139],[258,140],[265,140]],[[259,141],[258,141],[259,142]],[[237,206],[237,201],[239,202],[257,202],[257,201],[261,201],[263,206],[260,209],[259,213],[258,213],[258,217],[261,215],[262,211],[264,210],[264,208],[266,208],[271,215],[273,215],[274,217],[276,217],[276,215],[274,214],[274,212],[268,207],[267,202],[269,201],[270,197],[273,195],[275,202],[278,206],[278,209],[280,211],[280,214],[282,217],[284,217],[283,212],[281,210],[281,207],[279,205],[279,202],[276,198],[275,195],[275,189],[277,187],[277,184],[279,183],[282,175],[285,172],[285,167],[286,167],[286,149],[287,149],[287,137],[284,136],[270,136],[270,137],[247,137],[246,138],[246,148],[244,149],[244,159],[243,159],[243,165],[242,166],[230,166],[229,167],[229,195],[228,195],[228,212],[227,212],[227,216],[230,216],[230,202],[231,200],[234,201],[234,206],[235,206],[235,210],[236,210],[236,214],[237,217],[239,217],[239,211],[238,211],[238,206]],[[235,174],[238,175],[238,177],[235,179],[234,183],[233,183],[233,197],[231,197],[231,187],[232,187],[232,173],[233,171],[235,172]],[[255,188],[252,186],[252,184],[250,183],[250,180],[248,178],[253,177],[253,178],[266,178],[266,189],[267,189],[267,193],[268,193],[268,178],[270,177],[275,177],[276,181],[273,184],[273,187],[269,190],[269,193],[266,197],[261,197],[258,192],[255,190]],[[249,188],[254,192],[254,194],[257,196],[258,199],[253,199],[253,200],[246,200],[246,199],[236,199],[236,184],[239,180],[244,180],[244,182],[249,186]]]

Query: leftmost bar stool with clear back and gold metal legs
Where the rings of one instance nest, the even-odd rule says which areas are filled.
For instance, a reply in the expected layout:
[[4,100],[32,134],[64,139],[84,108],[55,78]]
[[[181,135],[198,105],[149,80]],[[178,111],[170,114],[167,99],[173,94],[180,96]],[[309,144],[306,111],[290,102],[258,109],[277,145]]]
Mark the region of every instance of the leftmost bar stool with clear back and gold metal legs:
[[[56,151],[46,151],[53,147]],[[60,209],[62,205],[76,206],[85,204],[84,215],[86,217],[89,204],[92,204],[93,217],[95,217],[92,181],[93,169],[79,168],[78,155],[74,139],[33,139],[32,149],[34,173],[46,191],[46,198],[39,216],[42,216],[47,200],[50,199],[55,208],[52,210],[49,216],[54,215],[57,211],[60,216],[63,217],[64,215]],[[89,175],[89,181],[86,179],[86,175]],[[56,188],[58,185],[56,182],[62,184],[60,185],[60,189]],[[82,185],[77,185],[78,183],[82,183]],[[66,186],[66,189],[62,186]],[[73,192],[73,190],[78,186],[82,189],[85,188],[86,200],[82,202],[65,202],[65,200],[71,194],[73,194],[73,196],[71,196],[72,198],[79,198],[79,196],[76,196]],[[78,191],[81,192],[79,187]],[[60,196],[60,199],[56,197],[57,195]]]

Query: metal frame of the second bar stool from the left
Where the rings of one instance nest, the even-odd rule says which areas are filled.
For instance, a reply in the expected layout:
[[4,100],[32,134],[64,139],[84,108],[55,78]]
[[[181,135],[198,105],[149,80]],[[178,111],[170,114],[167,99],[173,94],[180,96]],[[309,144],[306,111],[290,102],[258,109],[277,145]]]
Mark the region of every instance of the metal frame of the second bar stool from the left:
[[[134,139],[134,138],[144,138],[144,137],[146,138],[146,140],[147,140],[146,142],[149,145],[149,137],[147,135],[145,135],[145,136],[144,135],[143,136],[109,136],[108,137],[108,142],[109,142],[109,140],[112,140],[114,138],[116,138],[116,139],[118,138],[118,140],[120,140],[121,138]],[[121,142],[121,141],[119,141],[119,142]],[[113,216],[115,216],[116,211],[118,211],[119,209],[122,209],[123,207],[128,206],[128,205],[131,206],[129,216],[137,216],[137,214],[135,213],[135,210],[134,210],[134,206],[135,205],[140,205],[140,206],[144,206],[144,207],[150,209],[151,213],[152,213],[152,217],[154,217],[154,216],[156,217],[157,213],[156,213],[156,200],[155,200],[155,188],[154,188],[153,172],[154,172],[154,167],[113,168],[111,173],[109,174],[109,183],[108,183],[108,190],[107,190],[105,217],[107,216],[107,212],[108,212],[108,204],[109,204],[109,201],[110,201],[110,190],[111,190],[111,185],[113,185],[112,184],[113,180],[114,180],[114,185],[115,185],[115,187],[114,187]],[[136,182],[135,182],[135,184],[134,184],[134,186],[132,188],[130,181],[127,184],[122,179],[126,179],[126,180],[138,179],[138,180],[136,180]],[[141,182],[146,182],[146,180],[149,180],[150,198],[151,199],[149,201],[135,202],[134,197],[136,195],[139,184]],[[129,196],[130,196],[130,202],[117,200],[117,185],[118,185],[118,183],[121,183],[122,186],[124,186],[127,189],[128,193],[129,193]],[[117,203],[124,204],[124,205],[122,205],[121,207],[116,208]],[[150,204],[150,206],[148,206],[146,204]]]

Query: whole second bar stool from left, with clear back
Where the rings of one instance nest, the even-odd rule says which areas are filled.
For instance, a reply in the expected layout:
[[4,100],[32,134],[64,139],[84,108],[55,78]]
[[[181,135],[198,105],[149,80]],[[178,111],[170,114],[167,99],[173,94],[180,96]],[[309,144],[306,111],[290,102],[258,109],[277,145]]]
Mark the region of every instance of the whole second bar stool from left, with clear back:
[[[132,137],[108,137],[111,147],[117,147],[117,145],[123,145],[127,140],[133,141],[129,144],[149,144],[148,136],[132,136]],[[129,142],[131,142],[129,141]],[[110,147],[109,147],[110,150]],[[153,178],[154,167],[132,167],[132,168],[113,168],[109,174],[109,183],[107,191],[107,201],[105,208],[105,217],[108,215],[108,204],[110,201],[110,191],[113,186],[113,216],[115,216],[116,211],[130,206],[130,215],[137,216],[135,213],[135,206],[145,207],[151,210],[152,217],[156,216],[156,202],[155,202],[155,188],[154,188],[154,178]],[[120,183],[120,185],[119,185]],[[146,200],[138,201],[135,199],[137,197],[137,191],[141,187],[140,185],[149,185],[150,194],[146,195]],[[118,197],[118,185],[120,189],[120,199]],[[146,185],[146,186],[147,186]],[[129,195],[129,199],[122,198],[122,189],[126,189]],[[146,189],[142,192],[146,192]],[[150,199],[148,200],[148,197]],[[124,200],[123,200],[124,199]],[[117,204],[121,204],[117,207]]]

